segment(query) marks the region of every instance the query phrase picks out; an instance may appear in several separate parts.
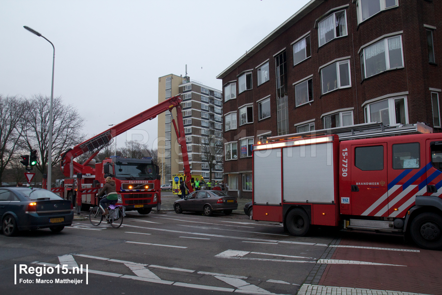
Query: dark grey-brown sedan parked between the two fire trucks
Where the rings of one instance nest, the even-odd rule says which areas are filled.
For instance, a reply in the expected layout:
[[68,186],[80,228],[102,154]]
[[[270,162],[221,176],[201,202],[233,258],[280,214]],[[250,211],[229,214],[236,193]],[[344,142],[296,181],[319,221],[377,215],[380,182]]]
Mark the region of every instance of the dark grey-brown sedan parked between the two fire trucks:
[[238,209],[238,201],[223,191],[194,191],[184,199],[176,200],[173,208],[178,214],[183,211],[202,211],[205,216],[210,216],[213,212],[223,211],[229,215]]

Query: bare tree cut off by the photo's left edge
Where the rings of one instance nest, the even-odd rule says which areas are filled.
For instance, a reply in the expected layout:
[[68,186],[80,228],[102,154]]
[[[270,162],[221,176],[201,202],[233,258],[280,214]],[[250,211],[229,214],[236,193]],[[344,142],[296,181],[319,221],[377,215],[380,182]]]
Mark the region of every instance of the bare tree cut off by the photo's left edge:
[[0,95],[0,184],[6,167],[18,158],[16,151],[26,126],[25,113],[22,99]]

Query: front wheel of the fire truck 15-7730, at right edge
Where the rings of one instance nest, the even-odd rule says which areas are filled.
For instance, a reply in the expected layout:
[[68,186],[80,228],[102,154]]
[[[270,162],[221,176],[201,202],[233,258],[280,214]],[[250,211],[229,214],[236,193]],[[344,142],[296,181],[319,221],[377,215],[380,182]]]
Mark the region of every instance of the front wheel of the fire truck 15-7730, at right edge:
[[421,213],[413,219],[410,235],[419,247],[442,250],[442,217],[436,213]]

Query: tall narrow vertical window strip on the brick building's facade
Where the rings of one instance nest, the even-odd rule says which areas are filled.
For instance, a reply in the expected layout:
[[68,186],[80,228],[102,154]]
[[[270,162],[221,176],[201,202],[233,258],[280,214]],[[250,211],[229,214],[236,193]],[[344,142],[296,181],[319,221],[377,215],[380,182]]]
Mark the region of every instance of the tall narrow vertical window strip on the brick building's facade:
[[289,98],[287,94],[287,60],[285,51],[275,57],[275,67],[278,135],[285,135],[289,132]]

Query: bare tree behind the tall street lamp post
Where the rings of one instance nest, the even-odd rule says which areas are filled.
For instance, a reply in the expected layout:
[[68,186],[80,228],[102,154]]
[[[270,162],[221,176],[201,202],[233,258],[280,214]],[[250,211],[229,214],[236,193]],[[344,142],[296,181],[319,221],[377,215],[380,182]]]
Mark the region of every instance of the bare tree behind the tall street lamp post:
[[[28,150],[37,150],[39,161],[36,168],[41,173],[48,171],[49,158],[49,111],[48,97],[35,95],[27,101],[28,128],[23,137],[23,146]],[[63,104],[60,97],[53,100],[52,128],[52,166],[59,165],[64,152],[69,147],[82,142],[81,129],[84,119],[72,105]]]

